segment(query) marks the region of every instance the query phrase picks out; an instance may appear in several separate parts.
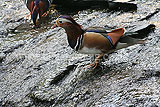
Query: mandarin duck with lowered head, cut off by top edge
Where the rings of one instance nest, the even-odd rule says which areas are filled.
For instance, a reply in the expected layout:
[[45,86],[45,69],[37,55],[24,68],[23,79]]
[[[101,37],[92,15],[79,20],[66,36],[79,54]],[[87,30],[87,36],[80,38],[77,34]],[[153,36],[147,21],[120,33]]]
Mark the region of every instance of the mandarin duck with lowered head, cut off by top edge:
[[30,11],[31,19],[35,27],[37,27],[37,17],[39,15],[39,20],[41,17],[47,14],[47,11],[53,0],[25,0],[25,4]]

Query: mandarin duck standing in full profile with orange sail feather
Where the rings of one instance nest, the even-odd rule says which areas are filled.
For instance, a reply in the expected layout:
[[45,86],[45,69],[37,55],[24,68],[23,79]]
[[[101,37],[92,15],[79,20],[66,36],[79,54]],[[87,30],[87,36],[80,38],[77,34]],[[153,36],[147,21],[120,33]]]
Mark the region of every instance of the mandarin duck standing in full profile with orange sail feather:
[[135,39],[125,34],[124,28],[106,31],[101,27],[90,27],[83,29],[72,17],[60,16],[52,29],[62,27],[67,33],[69,46],[84,54],[100,54],[96,57],[95,63],[90,64],[97,67],[99,58],[104,54],[112,53],[121,48],[126,48],[134,44],[144,44],[145,40]]

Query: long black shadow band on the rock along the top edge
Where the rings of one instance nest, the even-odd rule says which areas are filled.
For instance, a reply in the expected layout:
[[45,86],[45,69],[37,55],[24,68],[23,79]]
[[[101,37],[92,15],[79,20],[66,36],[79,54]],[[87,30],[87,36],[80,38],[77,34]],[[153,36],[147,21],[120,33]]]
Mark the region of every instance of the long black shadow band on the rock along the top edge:
[[86,9],[109,9],[110,11],[133,11],[137,10],[137,4],[130,2],[114,2],[108,0],[71,0],[71,1],[53,1],[56,9],[61,14],[74,14]]

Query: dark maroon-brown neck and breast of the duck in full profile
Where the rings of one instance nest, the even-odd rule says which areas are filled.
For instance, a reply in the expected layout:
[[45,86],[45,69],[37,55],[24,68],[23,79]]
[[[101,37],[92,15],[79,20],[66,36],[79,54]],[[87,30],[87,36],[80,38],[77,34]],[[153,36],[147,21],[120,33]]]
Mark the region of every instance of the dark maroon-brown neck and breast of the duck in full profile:
[[72,25],[65,28],[65,31],[67,33],[68,43],[70,47],[74,49],[77,44],[78,37],[83,35],[84,30],[80,26]]

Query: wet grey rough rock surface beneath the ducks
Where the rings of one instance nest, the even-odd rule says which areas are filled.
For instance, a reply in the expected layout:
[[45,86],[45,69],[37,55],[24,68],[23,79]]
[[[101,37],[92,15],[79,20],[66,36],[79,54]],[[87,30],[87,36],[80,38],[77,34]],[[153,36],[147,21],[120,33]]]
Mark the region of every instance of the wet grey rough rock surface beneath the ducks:
[[[144,45],[106,55],[95,70],[86,67],[94,61],[93,55],[74,52],[64,30],[51,29],[53,14],[35,30],[32,22],[24,19],[29,11],[22,1],[0,2],[2,107],[160,105],[159,1],[132,1],[137,10],[130,12],[87,9],[73,15],[84,28],[125,27],[142,37],[148,34]],[[151,31],[153,24],[156,27]]]

